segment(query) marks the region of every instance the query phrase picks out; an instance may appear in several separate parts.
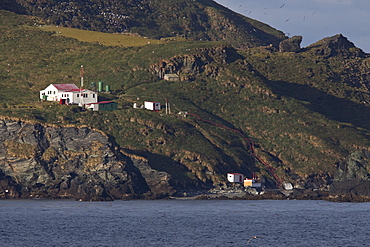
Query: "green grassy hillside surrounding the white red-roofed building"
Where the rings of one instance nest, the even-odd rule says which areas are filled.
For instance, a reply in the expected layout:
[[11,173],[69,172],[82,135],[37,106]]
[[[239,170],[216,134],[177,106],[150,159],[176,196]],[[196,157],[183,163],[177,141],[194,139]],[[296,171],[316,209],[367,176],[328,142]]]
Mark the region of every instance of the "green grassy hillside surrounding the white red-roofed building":
[[[369,149],[369,56],[328,40],[299,53],[271,47],[234,50],[219,42],[169,42],[108,47],[45,32],[27,16],[0,14],[0,114],[55,125],[88,125],[126,152],[172,174],[178,186],[224,181],[226,172],[271,177],[247,141],[179,111],[237,129],[283,180],[330,178],[349,152]],[[346,44],[345,40],[339,40]],[[327,53],[330,48],[331,53]],[[119,103],[113,112],[38,101],[50,83],[103,81]],[[155,69],[187,80],[161,80]],[[171,102],[174,114],[133,109],[144,100]],[[180,186],[180,187],[181,187]]]

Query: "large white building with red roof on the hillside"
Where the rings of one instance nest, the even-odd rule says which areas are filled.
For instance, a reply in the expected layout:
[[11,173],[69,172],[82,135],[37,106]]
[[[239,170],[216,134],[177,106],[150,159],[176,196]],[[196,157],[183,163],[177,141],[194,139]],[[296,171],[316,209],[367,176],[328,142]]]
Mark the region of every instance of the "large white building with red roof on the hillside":
[[40,91],[40,99],[59,101],[60,104],[91,104],[98,102],[98,95],[75,84],[50,84]]

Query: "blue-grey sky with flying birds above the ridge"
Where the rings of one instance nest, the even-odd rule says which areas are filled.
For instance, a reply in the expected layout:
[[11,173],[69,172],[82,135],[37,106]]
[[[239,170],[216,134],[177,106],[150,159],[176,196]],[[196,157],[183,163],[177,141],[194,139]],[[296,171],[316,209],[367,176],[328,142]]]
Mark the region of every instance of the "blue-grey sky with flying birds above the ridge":
[[325,37],[343,34],[370,53],[370,0],[215,0],[249,18],[292,37],[306,47]]

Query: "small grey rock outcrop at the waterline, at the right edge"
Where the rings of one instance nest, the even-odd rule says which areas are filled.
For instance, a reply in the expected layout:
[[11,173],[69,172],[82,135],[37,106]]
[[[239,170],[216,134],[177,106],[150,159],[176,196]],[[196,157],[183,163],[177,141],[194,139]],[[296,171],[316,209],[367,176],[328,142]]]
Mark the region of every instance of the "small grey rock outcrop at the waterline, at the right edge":
[[339,162],[330,193],[332,195],[370,196],[370,177],[366,170],[369,161],[369,151],[358,151]]

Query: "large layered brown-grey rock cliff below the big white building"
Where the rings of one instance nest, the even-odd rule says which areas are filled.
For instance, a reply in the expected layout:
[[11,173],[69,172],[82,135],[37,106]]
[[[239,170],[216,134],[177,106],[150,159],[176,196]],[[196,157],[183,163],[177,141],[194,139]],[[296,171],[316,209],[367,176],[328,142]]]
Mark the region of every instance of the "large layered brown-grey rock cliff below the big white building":
[[[117,150],[107,135],[86,127],[0,120],[0,198],[112,200],[152,195],[141,174],[150,170],[145,161],[139,170],[135,159]],[[156,181],[156,175],[147,178]],[[160,175],[162,189],[167,188],[168,177]]]

